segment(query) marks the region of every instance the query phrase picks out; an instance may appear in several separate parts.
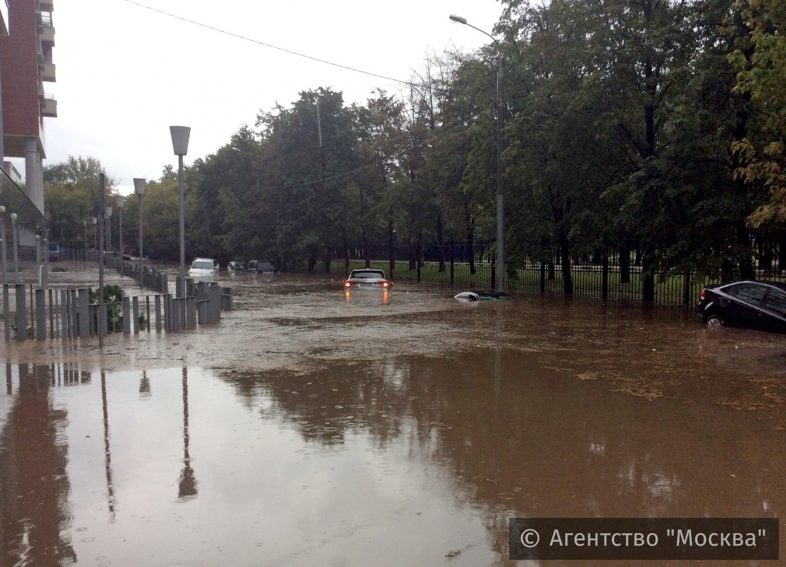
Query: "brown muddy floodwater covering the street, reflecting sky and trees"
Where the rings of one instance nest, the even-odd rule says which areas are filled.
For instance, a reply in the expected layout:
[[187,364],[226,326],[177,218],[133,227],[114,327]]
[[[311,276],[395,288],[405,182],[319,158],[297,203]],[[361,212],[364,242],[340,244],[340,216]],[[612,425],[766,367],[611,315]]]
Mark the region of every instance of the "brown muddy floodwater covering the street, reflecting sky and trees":
[[513,565],[509,518],[786,508],[783,336],[220,282],[235,310],[194,331],[6,344],[0,565]]

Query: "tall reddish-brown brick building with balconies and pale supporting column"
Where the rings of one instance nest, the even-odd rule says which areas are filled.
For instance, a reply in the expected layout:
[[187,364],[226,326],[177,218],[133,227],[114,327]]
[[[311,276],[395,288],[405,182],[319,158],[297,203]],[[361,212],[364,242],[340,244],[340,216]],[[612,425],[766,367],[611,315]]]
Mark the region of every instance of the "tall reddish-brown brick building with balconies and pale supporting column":
[[57,118],[57,101],[44,91],[55,81],[52,60],[53,0],[0,0],[5,35],[0,35],[2,154],[24,158],[28,199],[44,212],[42,159],[44,118]]

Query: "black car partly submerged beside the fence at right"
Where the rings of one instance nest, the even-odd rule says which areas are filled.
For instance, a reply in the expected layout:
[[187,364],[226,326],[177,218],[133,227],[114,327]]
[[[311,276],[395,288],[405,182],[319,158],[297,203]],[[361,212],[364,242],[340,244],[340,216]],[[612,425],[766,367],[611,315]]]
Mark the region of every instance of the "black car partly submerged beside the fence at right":
[[729,325],[786,333],[786,284],[739,281],[707,286],[696,315],[708,329]]

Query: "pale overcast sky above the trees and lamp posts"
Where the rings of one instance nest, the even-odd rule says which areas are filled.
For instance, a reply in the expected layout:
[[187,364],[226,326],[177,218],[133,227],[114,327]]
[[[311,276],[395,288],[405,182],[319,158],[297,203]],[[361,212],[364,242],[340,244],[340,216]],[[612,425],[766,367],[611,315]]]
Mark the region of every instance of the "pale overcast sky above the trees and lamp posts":
[[[179,20],[394,79],[429,51],[470,53],[490,42],[451,13],[492,31],[498,0],[54,0],[57,119],[44,119],[45,165],[101,160],[120,191],[177,166],[170,125],[191,126],[185,163],[214,153],[259,110],[288,107],[301,90],[341,91],[364,103],[399,85]],[[494,93],[489,93],[494,97]],[[24,174],[24,161],[12,159]]]

